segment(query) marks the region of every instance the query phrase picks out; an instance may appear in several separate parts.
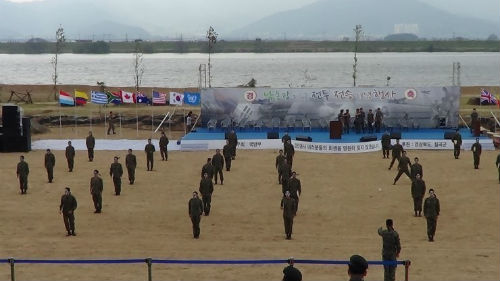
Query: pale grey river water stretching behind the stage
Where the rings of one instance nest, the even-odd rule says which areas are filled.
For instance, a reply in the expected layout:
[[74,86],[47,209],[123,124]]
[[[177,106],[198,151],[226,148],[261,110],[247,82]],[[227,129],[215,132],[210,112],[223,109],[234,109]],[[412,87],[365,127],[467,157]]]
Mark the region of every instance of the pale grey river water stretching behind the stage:
[[[0,54],[0,84],[51,84],[53,55]],[[198,86],[207,54],[145,54],[143,86]],[[59,56],[59,83],[134,85],[133,54]],[[460,62],[461,85],[500,85],[499,53],[362,53],[358,86],[453,85],[453,62]],[[212,87],[235,87],[250,79],[257,86],[336,87],[353,85],[353,53],[231,53],[212,55]],[[458,76],[458,75],[457,75]],[[208,85],[208,82],[207,82]]]

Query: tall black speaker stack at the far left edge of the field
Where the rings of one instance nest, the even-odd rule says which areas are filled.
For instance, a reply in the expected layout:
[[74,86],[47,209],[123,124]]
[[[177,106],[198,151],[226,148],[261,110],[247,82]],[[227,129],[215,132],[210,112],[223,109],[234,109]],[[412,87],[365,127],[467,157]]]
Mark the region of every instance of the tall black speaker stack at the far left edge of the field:
[[23,118],[17,105],[2,106],[0,152],[27,152],[31,150],[31,120]]

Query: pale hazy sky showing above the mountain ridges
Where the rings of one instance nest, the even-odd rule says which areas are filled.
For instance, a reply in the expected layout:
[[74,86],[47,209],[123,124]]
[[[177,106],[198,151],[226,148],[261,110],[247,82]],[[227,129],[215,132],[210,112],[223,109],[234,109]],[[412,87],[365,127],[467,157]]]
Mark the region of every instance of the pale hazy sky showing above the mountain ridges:
[[[11,2],[32,2],[32,1],[47,1],[47,0],[8,0]],[[67,0],[71,1],[71,0]],[[107,0],[102,0],[106,2]],[[192,3],[193,6],[197,6],[199,0],[155,0],[163,5],[172,4],[174,6],[179,5],[180,2],[183,4]],[[266,10],[265,14],[274,13],[280,10],[288,10],[298,8],[307,5],[318,0],[272,0],[272,1],[248,1],[253,2],[259,9]],[[350,0],[346,0],[350,1]],[[377,0],[373,0],[377,1]],[[401,0],[405,1],[405,0]],[[447,10],[454,14],[468,15],[477,18],[484,18],[491,21],[498,22],[500,20],[500,0],[419,0],[425,2],[429,5]],[[123,2],[127,2],[126,0]],[[204,0],[203,2],[210,3],[211,6],[215,6],[220,9],[238,9],[238,5],[234,3],[243,4],[245,6],[246,1],[240,0]],[[183,5],[183,6],[184,6]]]

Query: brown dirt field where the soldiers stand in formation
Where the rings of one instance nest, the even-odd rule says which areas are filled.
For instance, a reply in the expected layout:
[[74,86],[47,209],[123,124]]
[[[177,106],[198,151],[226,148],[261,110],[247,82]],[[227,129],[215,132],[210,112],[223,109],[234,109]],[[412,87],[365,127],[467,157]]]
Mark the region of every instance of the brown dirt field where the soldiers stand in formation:
[[[281,187],[273,169],[275,151],[239,151],[224,186],[215,187],[212,212],[201,220],[201,237],[192,238],[187,202],[198,188],[201,165],[210,152],[171,153],[146,172],[137,152],[136,184],[124,177],[122,195],[113,196],[109,165],[116,152],[96,152],[87,162],[78,151],[68,173],[63,152],[56,152],[55,182],[47,183],[43,151],[25,154],[29,189],[19,194],[15,167],[19,153],[2,154],[0,198],[1,258],[172,258],[172,259],[338,259],[361,254],[380,260],[377,228],[393,218],[401,237],[400,259],[410,259],[410,280],[498,280],[500,204],[497,152],[485,152],[479,170],[472,155],[410,151],[420,157],[428,188],[441,201],[436,242],[427,242],[424,218],[413,217],[410,181],[392,185],[396,171],[381,153],[319,155],[298,153],[294,170],[303,196],[294,221],[293,240],[284,236],[279,209]],[[125,152],[119,153],[121,156]],[[124,158],[120,161],[123,163]],[[104,178],[103,213],[94,214],[88,184],[93,169]],[[76,237],[66,237],[60,196],[70,186],[78,200]],[[379,188],[382,191],[379,191]],[[280,280],[285,265],[154,265],[154,280]],[[346,266],[298,265],[304,280],[346,280]],[[9,267],[0,279],[9,279]],[[146,280],[146,265],[16,266],[17,280]],[[397,279],[404,277],[398,267]],[[383,268],[371,266],[367,280],[382,280]]]

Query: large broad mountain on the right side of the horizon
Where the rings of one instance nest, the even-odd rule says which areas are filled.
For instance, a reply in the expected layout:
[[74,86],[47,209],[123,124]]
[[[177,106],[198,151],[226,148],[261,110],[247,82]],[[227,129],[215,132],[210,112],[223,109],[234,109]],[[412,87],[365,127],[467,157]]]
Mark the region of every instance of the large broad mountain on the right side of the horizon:
[[[479,5],[479,4],[478,4]],[[353,37],[361,24],[365,35],[383,38],[395,24],[417,27],[419,37],[485,39],[497,34],[494,22],[456,16],[417,0],[322,0],[300,9],[280,12],[231,32],[240,38],[341,39]]]

